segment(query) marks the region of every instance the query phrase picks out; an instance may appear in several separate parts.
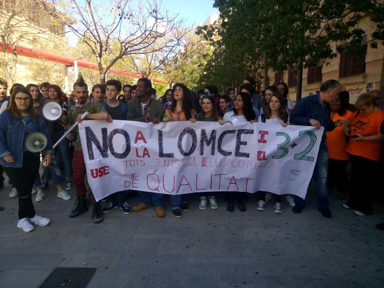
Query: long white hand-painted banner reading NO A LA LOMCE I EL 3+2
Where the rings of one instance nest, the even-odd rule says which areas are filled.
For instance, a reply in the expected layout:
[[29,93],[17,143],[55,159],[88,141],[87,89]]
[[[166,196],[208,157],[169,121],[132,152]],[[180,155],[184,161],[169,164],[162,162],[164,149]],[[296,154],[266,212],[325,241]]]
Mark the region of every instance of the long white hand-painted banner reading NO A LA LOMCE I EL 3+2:
[[83,121],[79,132],[96,200],[128,189],[164,194],[269,191],[305,198],[323,128]]

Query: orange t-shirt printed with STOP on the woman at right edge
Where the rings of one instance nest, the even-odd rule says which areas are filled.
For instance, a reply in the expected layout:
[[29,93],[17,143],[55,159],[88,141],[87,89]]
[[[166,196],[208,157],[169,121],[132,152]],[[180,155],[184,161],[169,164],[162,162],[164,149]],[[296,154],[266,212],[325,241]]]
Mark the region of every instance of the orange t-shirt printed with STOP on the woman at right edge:
[[380,126],[384,121],[384,111],[378,109],[368,116],[362,113],[355,119],[351,115],[348,122],[351,123],[351,138],[348,144],[347,152],[352,155],[362,156],[374,161],[379,161],[382,156],[383,141],[354,141],[353,136],[360,134],[362,136],[372,136],[380,134]]

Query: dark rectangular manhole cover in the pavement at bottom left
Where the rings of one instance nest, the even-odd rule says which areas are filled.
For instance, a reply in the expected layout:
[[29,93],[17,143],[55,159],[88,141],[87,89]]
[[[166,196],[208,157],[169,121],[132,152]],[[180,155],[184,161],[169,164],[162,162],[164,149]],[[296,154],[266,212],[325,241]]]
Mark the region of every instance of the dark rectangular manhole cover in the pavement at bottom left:
[[85,288],[96,268],[57,267],[40,288]]

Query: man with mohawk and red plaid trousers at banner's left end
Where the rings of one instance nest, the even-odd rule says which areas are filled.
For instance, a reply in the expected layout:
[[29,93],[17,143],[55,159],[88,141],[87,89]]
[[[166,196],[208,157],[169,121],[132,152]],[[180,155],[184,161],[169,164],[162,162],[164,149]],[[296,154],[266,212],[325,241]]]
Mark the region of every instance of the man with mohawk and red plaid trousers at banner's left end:
[[[89,114],[84,120],[106,120],[108,123],[112,122],[111,116],[108,115],[104,107],[97,102],[91,102],[88,99],[88,86],[83,80],[83,76],[79,73],[77,81],[73,84],[73,94],[77,99],[76,106],[69,109],[69,124],[73,125],[76,121],[81,123],[81,116],[88,112]],[[69,218],[77,217],[81,213],[88,211],[87,201],[85,199],[86,188],[84,184],[84,177],[86,175],[86,167],[84,162],[83,149],[81,147],[80,136],[78,128],[73,131],[76,133],[75,151],[73,152],[73,185],[76,189],[76,202],[69,213]],[[70,133],[67,138],[73,139],[73,134]],[[92,219],[95,223],[103,221],[101,213],[100,202],[96,202],[93,207]]]

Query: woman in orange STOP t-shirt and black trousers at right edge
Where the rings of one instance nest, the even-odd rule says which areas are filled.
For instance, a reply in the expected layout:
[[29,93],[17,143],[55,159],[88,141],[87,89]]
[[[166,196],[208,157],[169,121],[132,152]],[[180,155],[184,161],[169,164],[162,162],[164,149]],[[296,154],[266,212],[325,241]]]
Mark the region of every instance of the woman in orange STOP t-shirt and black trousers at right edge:
[[372,214],[373,196],[378,182],[380,158],[384,140],[384,111],[376,105],[375,97],[364,93],[356,100],[359,114],[344,123],[350,136],[347,152],[351,154],[352,190],[343,208],[356,209],[358,216]]

